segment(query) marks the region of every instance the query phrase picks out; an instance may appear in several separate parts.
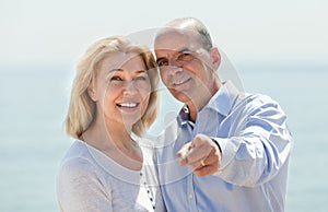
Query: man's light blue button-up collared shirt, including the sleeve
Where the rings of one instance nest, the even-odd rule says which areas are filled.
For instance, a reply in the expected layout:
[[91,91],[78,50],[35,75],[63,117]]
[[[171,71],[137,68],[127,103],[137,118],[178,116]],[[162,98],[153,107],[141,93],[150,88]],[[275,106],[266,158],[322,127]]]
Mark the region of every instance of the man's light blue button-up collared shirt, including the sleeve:
[[[156,163],[168,211],[284,211],[292,139],[286,116],[266,95],[242,93],[226,82],[198,113],[184,107],[156,143]],[[197,177],[176,153],[197,133],[216,140],[219,172]]]

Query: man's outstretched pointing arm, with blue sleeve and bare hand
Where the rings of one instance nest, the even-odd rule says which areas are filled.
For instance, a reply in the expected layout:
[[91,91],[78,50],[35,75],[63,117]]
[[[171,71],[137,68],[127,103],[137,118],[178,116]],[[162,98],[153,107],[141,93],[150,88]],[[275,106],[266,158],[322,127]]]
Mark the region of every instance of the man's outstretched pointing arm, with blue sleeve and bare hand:
[[255,186],[274,177],[289,157],[291,136],[279,105],[261,103],[245,109],[247,114],[237,119],[243,121],[229,138],[197,134],[179,151],[180,164],[198,176],[215,174],[239,186]]

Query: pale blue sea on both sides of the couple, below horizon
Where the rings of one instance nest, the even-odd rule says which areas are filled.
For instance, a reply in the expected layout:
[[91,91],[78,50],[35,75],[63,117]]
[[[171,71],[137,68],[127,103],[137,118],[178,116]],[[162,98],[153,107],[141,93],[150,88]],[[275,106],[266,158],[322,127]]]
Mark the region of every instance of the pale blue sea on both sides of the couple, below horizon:
[[[327,212],[328,64],[239,62],[232,80],[243,90],[278,101],[294,145],[286,212]],[[65,133],[71,64],[0,68],[0,211],[56,212],[59,162],[73,142]],[[224,75],[224,74],[223,74]],[[224,76],[230,80],[229,74]],[[160,115],[149,134],[162,131],[180,104],[161,86]]]

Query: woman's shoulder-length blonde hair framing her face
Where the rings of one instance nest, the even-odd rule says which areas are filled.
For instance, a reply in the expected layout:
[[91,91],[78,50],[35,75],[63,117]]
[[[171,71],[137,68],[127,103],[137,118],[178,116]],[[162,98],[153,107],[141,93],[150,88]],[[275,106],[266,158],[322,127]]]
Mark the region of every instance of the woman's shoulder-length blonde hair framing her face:
[[77,66],[77,73],[72,84],[70,105],[65,120],[66,131],[75,139],[81,139],[82,133],[90,127],[95,118],[96,106],[91,99],[87,87],[98,71],[99,63],[113,52],[134,52],[145,64],[151,82],[149,105],[141,119],[132,127],[132,132],[142,136],[154,122],[159,110],[159,73],[152,52],[126,37],[113,36],[99,39],[86,50]]

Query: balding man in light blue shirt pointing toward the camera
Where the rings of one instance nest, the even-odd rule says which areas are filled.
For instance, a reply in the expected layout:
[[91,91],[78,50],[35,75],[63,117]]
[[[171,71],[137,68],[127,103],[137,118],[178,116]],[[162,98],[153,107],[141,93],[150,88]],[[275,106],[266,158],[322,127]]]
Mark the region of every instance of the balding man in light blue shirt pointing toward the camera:
[[285,114],[265,95],[221,82],[221,56],[201,22],[169,22],[156,35],[163,83],[185,106],[159,138],[168,211],[284,211],[292,146]]

